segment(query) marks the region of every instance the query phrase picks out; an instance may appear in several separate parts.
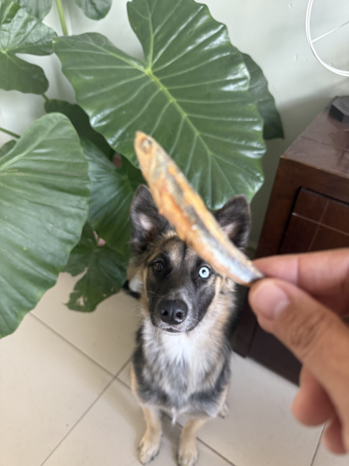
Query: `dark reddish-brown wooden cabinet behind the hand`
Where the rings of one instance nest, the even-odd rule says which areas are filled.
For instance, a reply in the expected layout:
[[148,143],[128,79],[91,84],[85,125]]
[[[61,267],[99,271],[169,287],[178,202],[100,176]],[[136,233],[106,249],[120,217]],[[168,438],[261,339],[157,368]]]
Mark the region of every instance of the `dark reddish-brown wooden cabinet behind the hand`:
[[[281,156],[256,257],[349,247],[349,124],[329,106]],[[245,301],[234,350],[298,383],[300,363]]]

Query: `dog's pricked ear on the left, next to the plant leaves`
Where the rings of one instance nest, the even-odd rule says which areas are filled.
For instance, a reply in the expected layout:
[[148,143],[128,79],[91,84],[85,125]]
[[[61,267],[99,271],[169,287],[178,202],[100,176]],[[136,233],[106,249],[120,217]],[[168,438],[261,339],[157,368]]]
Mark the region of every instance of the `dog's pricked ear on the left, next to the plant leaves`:
[[134,194],[130,208],[132,223],[131,246],[135,253],[145,251],[149,243],[170,228],[168,221],[160,215],[153,196],[145,185],[140,185]]

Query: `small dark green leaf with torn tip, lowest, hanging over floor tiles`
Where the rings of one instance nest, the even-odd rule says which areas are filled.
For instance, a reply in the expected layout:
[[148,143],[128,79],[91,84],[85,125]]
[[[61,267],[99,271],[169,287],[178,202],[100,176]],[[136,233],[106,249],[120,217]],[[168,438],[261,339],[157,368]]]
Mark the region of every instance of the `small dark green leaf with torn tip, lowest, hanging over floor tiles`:
[[87,267],[87,271],[76,283],[67,306],[76,311],[91,312],[98,303],[120,291],[126,280],[128,259],[107,245],[98,247],[92,228],[86,225],[66,270],[70,273],[82,272],[81,263]]

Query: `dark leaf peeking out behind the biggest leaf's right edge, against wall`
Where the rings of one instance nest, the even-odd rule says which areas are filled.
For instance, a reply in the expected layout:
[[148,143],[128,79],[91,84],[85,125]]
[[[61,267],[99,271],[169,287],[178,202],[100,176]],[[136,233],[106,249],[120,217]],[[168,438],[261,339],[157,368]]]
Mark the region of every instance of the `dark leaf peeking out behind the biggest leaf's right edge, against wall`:
[[281,118],[276,110],[274,97],[268,91],[268,82],[262,73],[262,69],[249,55],[242,54],[242,58],[251,75],[249,92],[254,97],[257,110],[264,122],[264,139],[283,137]]

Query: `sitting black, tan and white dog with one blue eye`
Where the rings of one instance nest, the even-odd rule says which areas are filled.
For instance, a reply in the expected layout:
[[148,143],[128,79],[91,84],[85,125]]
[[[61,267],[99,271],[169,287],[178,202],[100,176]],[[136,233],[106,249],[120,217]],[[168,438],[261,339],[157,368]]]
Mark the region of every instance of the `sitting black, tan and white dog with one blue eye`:
[[[243,195],[213,212],[221,228],[243,249],[251,215]],[[130,208],[133,266],[141,284],[142,323],[131,363],[131,388],[141,405],[146,431],[139,444],[142,464],[160,449],[161,412],[188,415],[177,461],[193,466],[201,426],[228,413],[228,340],[236,316],[235,282],[223,278],[179,239],[145,185]]]

